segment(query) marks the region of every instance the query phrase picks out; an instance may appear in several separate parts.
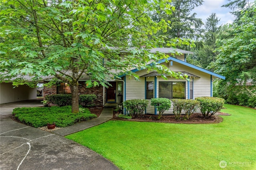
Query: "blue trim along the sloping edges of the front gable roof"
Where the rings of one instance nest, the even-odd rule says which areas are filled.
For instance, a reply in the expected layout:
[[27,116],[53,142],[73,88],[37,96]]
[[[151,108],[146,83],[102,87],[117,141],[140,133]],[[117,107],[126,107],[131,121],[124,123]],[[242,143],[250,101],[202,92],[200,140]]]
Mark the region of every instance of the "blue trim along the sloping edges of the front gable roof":
[[[204,68],[195,66],[195,65],[193,65],[193,64],[186,63],[186,62],[184,62],[184,61],[182,61],[182,60],[175,59],[174,57],[169,57],[167,60],[175,61],[175,62],[177,62],[177,63],[180,63],[180,64],[183,64],[183,65],[185,65],[185,66],[194,68],[194,69],[196,69],[196,70],[205,72],[205,73],[210,74],[210,75],[212,75],[212,76],[216,76],[216,77],[218,77],[218,78],[222,78],[222,79],[224,79],[224,80],[226,79],[225,76],[222,76],[222,75],[220,75],[220,74],[211,72],[211,71],[209,71],[209,70],[206,70],[206,69],[204,69]],[[158,61],[158,63],[164,63],[165,61],[166,61],[166,59],[162,59],[162,60]],[[148,64],[148,65],[153,65],[153,64],[151,63],[151,64]],[[131,70],[131,71],[132,71],[132,72],[137,72],[137,71],[140,71],[140,70],[136,68],[136,69],[133,69],[133,70]],[[122,76],[125,76],[125,74],[122,75]],[[120,77],[122,77],[122,76],[120,76]]]

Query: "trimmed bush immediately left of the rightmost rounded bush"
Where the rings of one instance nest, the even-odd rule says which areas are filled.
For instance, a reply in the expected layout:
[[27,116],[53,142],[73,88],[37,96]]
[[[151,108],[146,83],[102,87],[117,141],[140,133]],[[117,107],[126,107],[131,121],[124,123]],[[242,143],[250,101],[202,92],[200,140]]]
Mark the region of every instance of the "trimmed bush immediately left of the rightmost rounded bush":
[[183,99],[183,110],[185,112],[186,119],[189,119],[189,117],[196,111],[196,109],[199,107],[200,102],[197,100],[190,100],[190,99]]

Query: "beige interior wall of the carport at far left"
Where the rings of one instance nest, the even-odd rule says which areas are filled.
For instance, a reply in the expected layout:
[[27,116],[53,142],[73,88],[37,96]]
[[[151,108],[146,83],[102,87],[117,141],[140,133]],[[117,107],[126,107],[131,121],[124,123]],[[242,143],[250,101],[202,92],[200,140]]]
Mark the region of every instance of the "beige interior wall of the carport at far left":
[[27,85],[13,87],[12,83],[0,83],[0,104],[36,99],[36,88]]

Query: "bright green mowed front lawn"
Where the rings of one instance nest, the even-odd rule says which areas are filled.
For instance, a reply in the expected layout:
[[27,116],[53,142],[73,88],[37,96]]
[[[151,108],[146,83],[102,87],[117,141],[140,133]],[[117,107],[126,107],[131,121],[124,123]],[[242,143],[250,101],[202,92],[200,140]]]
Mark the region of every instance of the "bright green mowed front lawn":
[[[108,121],[68,135],[123,170],[256,169],[256,110],[224,105],[216,124]],[[246,164],[246,166],[242,166]]]

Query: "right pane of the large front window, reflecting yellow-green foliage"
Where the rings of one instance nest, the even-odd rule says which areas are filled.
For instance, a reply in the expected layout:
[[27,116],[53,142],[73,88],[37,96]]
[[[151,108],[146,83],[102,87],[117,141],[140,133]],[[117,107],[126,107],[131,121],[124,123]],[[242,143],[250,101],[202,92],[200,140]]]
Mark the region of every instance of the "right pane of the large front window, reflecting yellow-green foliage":
[[186,88],[185,82],[173,82],[172,83],[172,98],[186,99],[185,88]]

